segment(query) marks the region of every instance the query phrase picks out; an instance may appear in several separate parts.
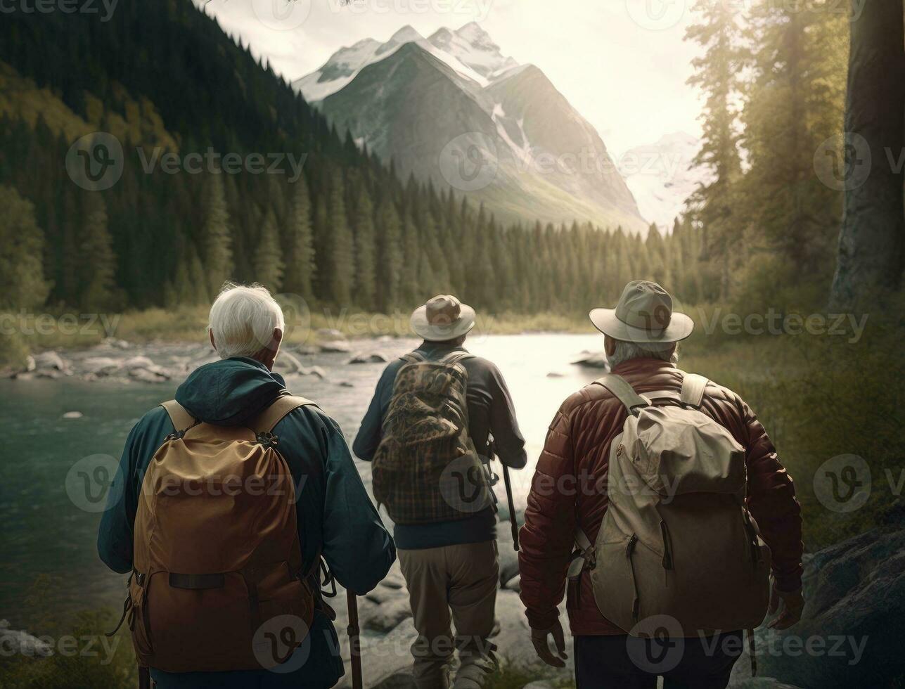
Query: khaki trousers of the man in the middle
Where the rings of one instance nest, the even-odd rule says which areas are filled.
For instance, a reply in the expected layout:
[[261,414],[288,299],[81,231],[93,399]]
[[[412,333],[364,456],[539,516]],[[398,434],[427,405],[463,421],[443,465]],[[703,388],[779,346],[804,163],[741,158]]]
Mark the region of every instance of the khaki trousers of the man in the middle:
[[418,632],[412,644],[415,684],[418,689],[447,689],[452,652],[458,648],[461,666],[452,685],[477,689],[496,668],[488,636],[500,583],[497,541],[397,554]]

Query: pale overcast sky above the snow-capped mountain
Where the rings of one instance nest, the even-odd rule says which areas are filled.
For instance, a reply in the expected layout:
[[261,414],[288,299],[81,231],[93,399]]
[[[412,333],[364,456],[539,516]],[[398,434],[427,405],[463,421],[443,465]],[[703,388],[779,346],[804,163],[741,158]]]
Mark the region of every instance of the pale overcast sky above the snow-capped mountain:
[[[203,0],[196,0],[202,2]],[[209,0],[226,31],[288,79],[339,47],[424,36],[477,21],[518,62],[543,70],[615,155],[664,134],[700,136],[700,96],[685,81],[696,47],[682,37],[691,0]]]

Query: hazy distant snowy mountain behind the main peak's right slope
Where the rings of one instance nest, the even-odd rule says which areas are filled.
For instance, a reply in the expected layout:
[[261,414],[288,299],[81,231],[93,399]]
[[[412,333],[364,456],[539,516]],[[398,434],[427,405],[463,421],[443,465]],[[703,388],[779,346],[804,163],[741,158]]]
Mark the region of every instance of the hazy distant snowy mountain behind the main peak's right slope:
[[677,131],[656,143],[632,148],[619,159],[641,215],[662,230],[672,229],[686,199],[710,179],[706,170],[691,167],[699,150],[700,139]]

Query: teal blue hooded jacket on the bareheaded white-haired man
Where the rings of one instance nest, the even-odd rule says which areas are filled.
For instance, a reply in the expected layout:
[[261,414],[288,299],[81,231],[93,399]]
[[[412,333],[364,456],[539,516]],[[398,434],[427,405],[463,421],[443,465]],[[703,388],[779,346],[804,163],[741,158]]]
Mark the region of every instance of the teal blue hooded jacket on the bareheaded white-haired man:
[[[195,370],[176,390],[192,416],[216,426],[240,426],[269,407],[285,389],[283,379],[253,359],[225,359]],[[132,569],[132,537],[138,494],[157,448],[175,429],[163,407],[143,416],[129,433],[100,521],[98,551],[110,569]],[[368,497],[337,423],[317,407],[300,407],[273,430],[280,452],[300,486],[299,534],[305,568],[322,552],[340,584],[364,595],[395,560],[395,546]],[[332,622],[315,614],[308,660],[291,673],[164,673],[151,670],[159,689],[169,687],[329,687],[343,675]],[[302,650],[300,649],[300,650]],[[292,659],[288,664],[292,663]]]

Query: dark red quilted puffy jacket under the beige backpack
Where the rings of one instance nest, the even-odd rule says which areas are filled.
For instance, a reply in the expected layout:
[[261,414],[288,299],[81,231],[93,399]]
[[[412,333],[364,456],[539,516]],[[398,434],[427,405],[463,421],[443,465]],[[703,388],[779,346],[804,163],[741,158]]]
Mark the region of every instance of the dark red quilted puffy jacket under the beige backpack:
[[[681,370],[660,359],[631,359],[613,372],[641,394],[681,391]],[[704,393],[701,410],[746,448],[748,510],[772,552],[776,587],[799,589],[801,505],[767,431],[738,395],[712,382]],[[521,600],[531,627],[547,629],[556,621],[557,605],[566,589],[576,523],[591,542],[595,541],[606,512],[610,443],[622,432],[627,415],[609,390],[592,384],[568,397],[550,424],[519,536]],[[597,609],[587,571],[582,574],[578,595],[571,593],[566,607],[573,636],[624,634]]]

